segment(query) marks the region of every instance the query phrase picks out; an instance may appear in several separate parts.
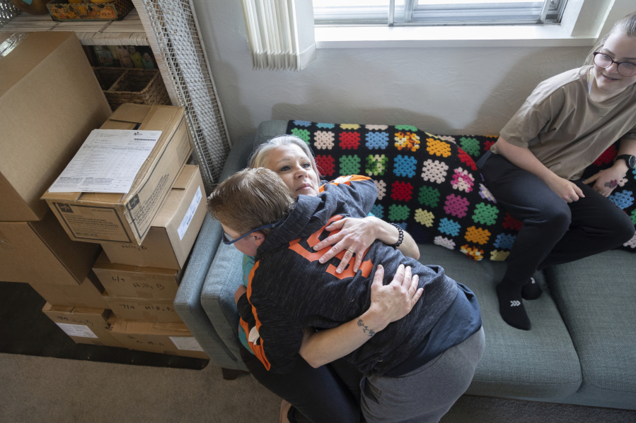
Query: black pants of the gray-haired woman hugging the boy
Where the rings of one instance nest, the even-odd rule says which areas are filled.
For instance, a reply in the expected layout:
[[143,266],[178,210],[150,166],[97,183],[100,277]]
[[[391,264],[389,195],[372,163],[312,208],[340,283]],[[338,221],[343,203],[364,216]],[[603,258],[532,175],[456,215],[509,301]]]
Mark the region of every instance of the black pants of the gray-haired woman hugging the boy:
[[243,346],[241,358],[262,386],[294,406],[297,412],[289,415],[291,423],[360,421],[362,373],[349,362],[339,359],[314,369],[299,357],[289,373],[277,374],[267,371],[260,360]]

